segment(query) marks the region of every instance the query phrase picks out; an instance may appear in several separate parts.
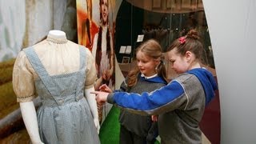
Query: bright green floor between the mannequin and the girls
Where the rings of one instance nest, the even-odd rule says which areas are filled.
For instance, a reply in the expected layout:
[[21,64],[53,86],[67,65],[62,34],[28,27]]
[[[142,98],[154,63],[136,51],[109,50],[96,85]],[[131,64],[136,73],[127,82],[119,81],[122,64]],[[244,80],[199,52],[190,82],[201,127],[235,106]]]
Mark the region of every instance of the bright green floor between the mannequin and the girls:
[[[110,113],[107,115],[105,121],[102,123],[99,138],[101,144],[118,144],[119,143],[119,129],[120,124],[118,122],[118,117],[120,114],[119,108],[113,106]],[[159,144],[159,142],[155,142]]]

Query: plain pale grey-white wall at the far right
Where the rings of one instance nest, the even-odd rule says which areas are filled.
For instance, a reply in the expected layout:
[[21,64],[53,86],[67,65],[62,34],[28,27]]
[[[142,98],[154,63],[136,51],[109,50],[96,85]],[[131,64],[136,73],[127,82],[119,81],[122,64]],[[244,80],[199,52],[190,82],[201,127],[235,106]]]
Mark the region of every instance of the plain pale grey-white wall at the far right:
[[256,1],[203,0],[221,104],[221,143],[256,142]]

